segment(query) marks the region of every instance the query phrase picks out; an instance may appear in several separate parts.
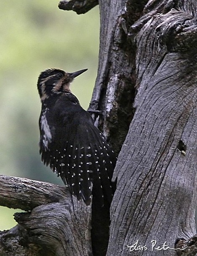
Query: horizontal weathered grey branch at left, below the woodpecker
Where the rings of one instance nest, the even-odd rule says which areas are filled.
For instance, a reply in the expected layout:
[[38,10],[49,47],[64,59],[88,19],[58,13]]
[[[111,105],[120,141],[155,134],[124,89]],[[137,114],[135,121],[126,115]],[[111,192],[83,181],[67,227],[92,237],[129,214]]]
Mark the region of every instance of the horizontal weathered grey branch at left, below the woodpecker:
[[68,188],[25,178],[0,175],[0,205],[30,211],[41,204],[71,200]]

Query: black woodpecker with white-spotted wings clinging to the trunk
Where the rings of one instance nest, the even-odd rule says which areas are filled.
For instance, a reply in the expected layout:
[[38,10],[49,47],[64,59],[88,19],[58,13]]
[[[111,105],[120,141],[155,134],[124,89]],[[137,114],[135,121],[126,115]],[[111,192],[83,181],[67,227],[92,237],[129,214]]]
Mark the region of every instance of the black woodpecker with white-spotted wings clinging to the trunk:
[[37,82],[41,99],[39,146],[42,162],[62,178],[71,194],[86,205],[93,195],[103,206],[113,197],[116,156],[70,91],[73,79],[86,70],[67,73],[49,68],[41,72]]

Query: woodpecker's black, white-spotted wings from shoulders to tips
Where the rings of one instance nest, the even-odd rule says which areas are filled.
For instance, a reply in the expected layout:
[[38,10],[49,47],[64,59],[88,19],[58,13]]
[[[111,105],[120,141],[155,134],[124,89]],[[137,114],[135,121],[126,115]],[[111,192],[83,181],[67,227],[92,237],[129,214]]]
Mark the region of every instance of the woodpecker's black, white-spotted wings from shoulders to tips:
[[50,151],[42,154],[46,163],[67,183],[71,193],[83,198],[86,204],[90,203],[92,193],[101,205],[104,197],[111,202],[116,157],[89,113],[78,104],[62,108],[61,102],[54,108],[54,127]]

